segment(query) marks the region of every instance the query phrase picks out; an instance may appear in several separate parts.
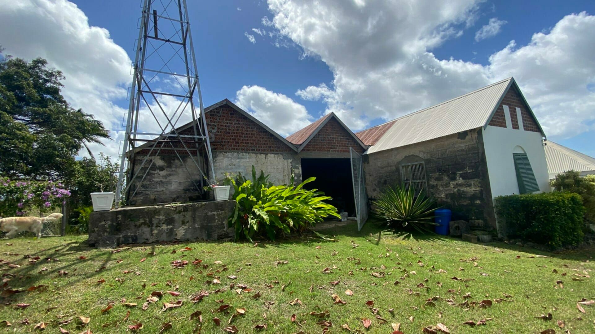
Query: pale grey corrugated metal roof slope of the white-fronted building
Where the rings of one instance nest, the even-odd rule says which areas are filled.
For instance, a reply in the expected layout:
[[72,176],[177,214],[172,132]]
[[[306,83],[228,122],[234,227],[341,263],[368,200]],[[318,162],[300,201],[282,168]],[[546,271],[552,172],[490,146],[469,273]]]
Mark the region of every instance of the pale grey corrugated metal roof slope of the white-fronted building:
[[394,119],[393,125],[367,153],[394,149],[449,134],[483,127],[512,84],[498,81],[454,99]]

